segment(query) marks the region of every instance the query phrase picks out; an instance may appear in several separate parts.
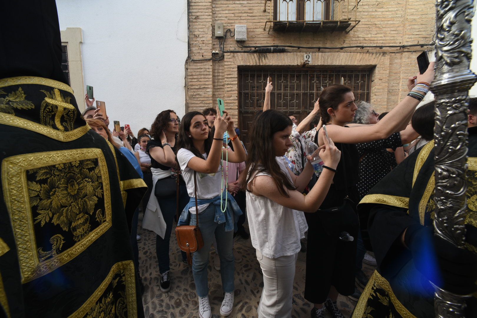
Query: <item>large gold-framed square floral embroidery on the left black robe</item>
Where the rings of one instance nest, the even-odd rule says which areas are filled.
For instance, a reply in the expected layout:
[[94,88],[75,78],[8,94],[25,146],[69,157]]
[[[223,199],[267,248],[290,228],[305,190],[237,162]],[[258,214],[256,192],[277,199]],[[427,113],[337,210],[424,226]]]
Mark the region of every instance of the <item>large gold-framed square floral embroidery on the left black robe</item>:
[[[111,227],[109,174],[101,149],[8,157],[2,161],[1,179],[22,283],[69,262]],[[95,206],[99,195],[104,201]],[[62,238],[44,237],[51,235],[52,229]],[[51,245],[42,245],[45,241]]]

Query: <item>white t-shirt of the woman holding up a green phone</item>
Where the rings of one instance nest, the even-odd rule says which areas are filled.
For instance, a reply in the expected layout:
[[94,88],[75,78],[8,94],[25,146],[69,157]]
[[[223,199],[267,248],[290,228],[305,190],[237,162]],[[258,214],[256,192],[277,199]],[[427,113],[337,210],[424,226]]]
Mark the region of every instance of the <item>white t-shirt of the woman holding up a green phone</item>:
[[[202,154],[204,159],[207,160],[207,154]],[[185,148],[179,149],[177,152],[177,161],[181,167],[182,177],[186,182],[187,193],[190,197],[195,197],[194,194],[194,170],[187,167],[187,164],[191,158],[195,157],[195,154]],[[222,191],[220,190],[222,179],[222,167],[218,166],[218,170],[215,174],[203,174],[197,172],[197,199],[212,199],[219,196]],[[225,183],[224,183],[225,186]],[[199,205],[199,213],[207,208],[206,205]],[[195,213],[196,207],[190,208],[190,213]]]

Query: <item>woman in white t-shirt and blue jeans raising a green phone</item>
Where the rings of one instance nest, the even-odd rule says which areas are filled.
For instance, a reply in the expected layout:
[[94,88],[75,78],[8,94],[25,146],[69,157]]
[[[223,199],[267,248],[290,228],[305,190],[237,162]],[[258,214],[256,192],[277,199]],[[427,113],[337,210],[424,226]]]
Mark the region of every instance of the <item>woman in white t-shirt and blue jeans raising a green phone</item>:
[[[217,113],[219,110],[217,108]],[[209,318],[212,316],[208,300],[207,264],[210,246],[215,236],[218,244],[220,257],[220,270],[222,277],[222,289],[225,293],[220,306],[220,314],[228,316],[233,309],[234,301],[234,271],[235,258],[232,252],[234,223],[238,218],[240,209],[237,203],[222,185],[221,156],[225,159],[228,153],[228,161],[240,163],[245,161],[245,150],[240,144],[235,133],[234,123],[227,112],[218,116],[214,122],[214,128],[209,133],[207,119],[202,113],[190,112],[182,118],[177,141],[177,161],[181,167],[182,176],[186,181],[187,192],[191,197],[186,206],[181,220],[188,216],[190,225],[196,224],[194,172],[197,172],[197,200],[199,213],[199,228],[204,240],[204,246],[193,254],[192,273],[196,283],[197,296],[199,297],[199,317]],[[230,140],[235,151],[226,150],[222,147],[223,135],[228,131]],[[212,135],[213,134],[213,135]],[[225,173],[225,168],[224,168]],[[228,203],[227,210],[222,213],[220,197],[223,195],[223,204]],[[227,201],[228,200],[228,201]],[[237,209],[236,209],[237,208]],[[232,212],[237,212],[232,213]],[[217,223],[215,220],[218,220]]]

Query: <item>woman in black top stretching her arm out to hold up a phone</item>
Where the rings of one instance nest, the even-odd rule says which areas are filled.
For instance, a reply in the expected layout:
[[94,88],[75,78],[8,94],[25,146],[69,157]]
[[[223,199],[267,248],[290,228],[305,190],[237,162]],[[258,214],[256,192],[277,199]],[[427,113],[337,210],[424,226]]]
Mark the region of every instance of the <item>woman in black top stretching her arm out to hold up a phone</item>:
[[[418,82],[430,83],[434,79],[434,63],[427,71],[418,76]],[[394,132],[404,130],[419,100],[406,96],[386,117],[374,125],[349,124],[357,110],[351,88],[344,85],[332,85],[320,95],[320,113],[326,124],[328,135],[342,152],[342,159],[333,178],[333,184],[321,204],[320,209],[342,205],[346,195],[353,200],[354,208],[358,204],[358,151],[354,144],[385,139]],[[318,145],[322,145],[323,129],[315,136]],[[342,313],[336,306],[338,294],[349,296],[354,293],[354,265],[356,258],[356,240],[342,241],[338,236],[327,235],[330,226],[321,219],[320,211],[313,214],[309,221],[305,298],[314,304],[311,317],[324,317],[323,303],[332,317],[341,318]],[[357,215],[347,219],[353,231],[358,234]],[[352,233],[353,232],[353,233]]]

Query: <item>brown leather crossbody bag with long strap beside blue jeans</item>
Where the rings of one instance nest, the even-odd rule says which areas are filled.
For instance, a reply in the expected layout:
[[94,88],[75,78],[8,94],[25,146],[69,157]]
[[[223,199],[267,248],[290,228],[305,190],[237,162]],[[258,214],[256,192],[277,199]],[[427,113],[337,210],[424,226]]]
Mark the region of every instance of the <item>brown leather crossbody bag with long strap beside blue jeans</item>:
[[[179,221],[179,195],[180,195],[180,187],[179,187],[179,178],[177,178],[177,185],[176,185],[176,215],[177,215],[177,222]],[[189,265],[192,265],[192,253],[197,252],[199,249],[204,246],[204,240],[202,239],[202,233],[200,233],[199,229],[199,209],[197,208],[197,178],[196,172],[194,171],[194,194],[196,196],[196,225],[183,225],[183,226],[176,226],[176,238],[177,244],[179,248],[186,252],[187,254],[187,262]]]

